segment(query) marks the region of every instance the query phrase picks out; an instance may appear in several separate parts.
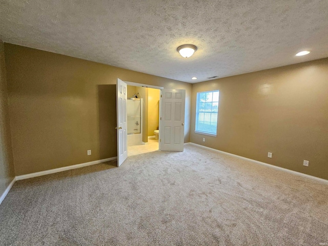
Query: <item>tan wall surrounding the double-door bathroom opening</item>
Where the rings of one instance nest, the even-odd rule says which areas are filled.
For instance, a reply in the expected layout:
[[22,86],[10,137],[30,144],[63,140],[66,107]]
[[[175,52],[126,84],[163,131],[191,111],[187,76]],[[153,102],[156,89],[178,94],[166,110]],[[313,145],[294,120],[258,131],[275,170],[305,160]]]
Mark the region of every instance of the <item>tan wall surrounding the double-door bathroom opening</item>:
[[117,78],[185,89],[189,141],[191,84],[12,44],[5,57],[16,175],[116,156]]

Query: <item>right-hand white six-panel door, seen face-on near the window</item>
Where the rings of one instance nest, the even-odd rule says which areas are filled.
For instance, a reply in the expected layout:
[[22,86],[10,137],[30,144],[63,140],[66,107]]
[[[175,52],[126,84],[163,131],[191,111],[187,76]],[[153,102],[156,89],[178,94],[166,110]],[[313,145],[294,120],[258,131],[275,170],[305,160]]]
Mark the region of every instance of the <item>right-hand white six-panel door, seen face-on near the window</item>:
[[183,151],[185,104],[185,90],[162,89],[159,131],[160,150]]

